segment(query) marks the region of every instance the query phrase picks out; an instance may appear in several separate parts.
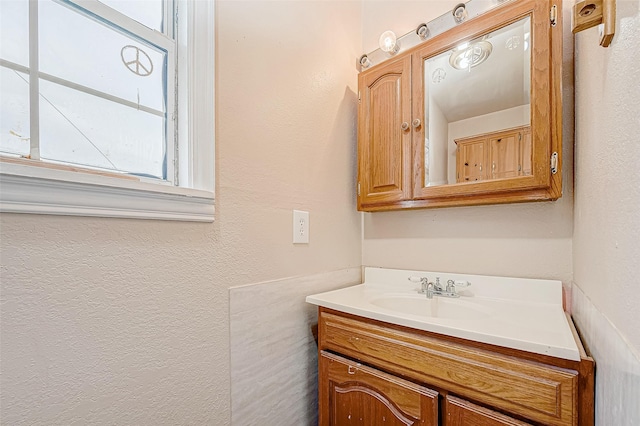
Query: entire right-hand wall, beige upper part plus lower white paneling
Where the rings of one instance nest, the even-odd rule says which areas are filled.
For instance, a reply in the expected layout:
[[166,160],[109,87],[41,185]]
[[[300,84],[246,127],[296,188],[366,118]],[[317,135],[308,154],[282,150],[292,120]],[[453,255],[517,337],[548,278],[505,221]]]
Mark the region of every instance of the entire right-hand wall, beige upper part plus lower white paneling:
[[640,424],[640,1],[576,35],[572,312],[596,360],[596,424]]

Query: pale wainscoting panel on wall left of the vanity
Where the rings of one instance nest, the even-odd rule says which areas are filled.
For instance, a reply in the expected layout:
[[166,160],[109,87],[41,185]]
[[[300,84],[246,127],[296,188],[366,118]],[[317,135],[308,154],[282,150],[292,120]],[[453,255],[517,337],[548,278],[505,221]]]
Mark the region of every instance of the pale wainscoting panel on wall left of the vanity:
[[360,268],[229,289],[231,422],[317,423],[317,346],[309,294],[361,282]]

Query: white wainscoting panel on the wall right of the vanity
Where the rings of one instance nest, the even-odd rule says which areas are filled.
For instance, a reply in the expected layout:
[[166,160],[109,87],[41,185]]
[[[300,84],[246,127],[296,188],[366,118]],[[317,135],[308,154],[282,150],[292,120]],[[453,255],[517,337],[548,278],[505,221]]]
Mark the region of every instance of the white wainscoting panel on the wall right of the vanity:
[[580,287],[572,316],[596,362],[596,425],[640,425],[640,358]]

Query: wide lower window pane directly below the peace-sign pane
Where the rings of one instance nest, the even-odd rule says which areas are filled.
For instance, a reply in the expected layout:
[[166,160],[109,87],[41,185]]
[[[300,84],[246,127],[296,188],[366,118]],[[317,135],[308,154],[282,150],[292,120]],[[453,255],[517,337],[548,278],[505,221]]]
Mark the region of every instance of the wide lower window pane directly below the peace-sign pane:
[[164,118],[40,80],[43,159],[163,177]]

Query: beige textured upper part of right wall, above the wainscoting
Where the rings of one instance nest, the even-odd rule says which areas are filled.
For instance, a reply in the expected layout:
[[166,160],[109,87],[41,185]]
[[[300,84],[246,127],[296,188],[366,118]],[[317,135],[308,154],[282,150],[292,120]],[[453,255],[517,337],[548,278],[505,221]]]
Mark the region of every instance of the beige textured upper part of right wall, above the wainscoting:
[[640,354],[640,1],[617,3],[610,47],[576,35],[574,280]]

